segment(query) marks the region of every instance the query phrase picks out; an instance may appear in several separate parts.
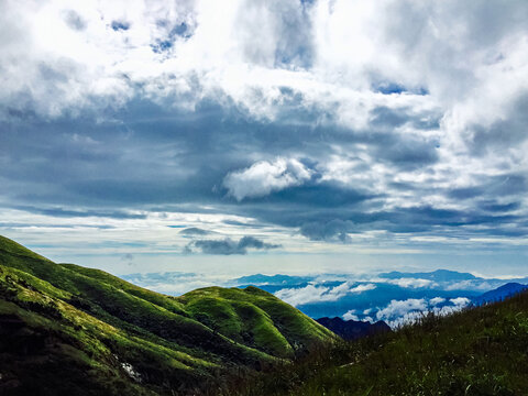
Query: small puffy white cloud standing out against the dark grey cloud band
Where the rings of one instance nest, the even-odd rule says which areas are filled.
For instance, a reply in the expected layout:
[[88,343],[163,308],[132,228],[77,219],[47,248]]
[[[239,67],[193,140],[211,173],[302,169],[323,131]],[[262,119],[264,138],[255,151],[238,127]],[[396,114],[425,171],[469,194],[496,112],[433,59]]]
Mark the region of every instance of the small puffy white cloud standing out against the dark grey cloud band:
[[241,201],[263,197],[272,191],[299,186],[309,180],[311,172],[297,160],[261,161],[243,170],[231,172],[223,179],[229,195]]

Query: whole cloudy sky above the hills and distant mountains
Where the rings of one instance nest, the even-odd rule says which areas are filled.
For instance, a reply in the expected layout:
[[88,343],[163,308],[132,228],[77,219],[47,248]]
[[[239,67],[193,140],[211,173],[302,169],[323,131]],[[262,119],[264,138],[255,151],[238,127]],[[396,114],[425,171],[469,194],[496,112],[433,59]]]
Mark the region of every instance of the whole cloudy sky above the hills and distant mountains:
[[114,274],[528,275],[528,2],[0,2],[0,234]]

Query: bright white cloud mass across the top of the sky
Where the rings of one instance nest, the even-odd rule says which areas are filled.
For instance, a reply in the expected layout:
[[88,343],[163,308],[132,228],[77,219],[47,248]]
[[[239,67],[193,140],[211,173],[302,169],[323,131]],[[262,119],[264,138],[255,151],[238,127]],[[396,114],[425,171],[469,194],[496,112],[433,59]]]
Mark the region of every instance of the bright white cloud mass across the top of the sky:
[[[454,0],[7,2],[2,99],[29,94],[37,111],[57,116],[95,105],[90,96],[107,97],[107,105],[135,94],[180,97],[190,106],[212,96],[270,118],[287,99],[280,88],[289,87],[302,94],[304,106],[356,125],[377,106],[437,103],[443,125],[461,132],[505,117],[526,90],[526,8]],[[128,29],[114,31],[114,21]],[[490,24],[493,34],[481,34]],[[179,35],[178,26],[185,26]],[[161,43],[164,51],[155,51]],[[15,67],[21,63],[23,70]],[[43,80],[43,68],[61,79]],[[430,96],[372,92],[386,82],[426,87]]]

